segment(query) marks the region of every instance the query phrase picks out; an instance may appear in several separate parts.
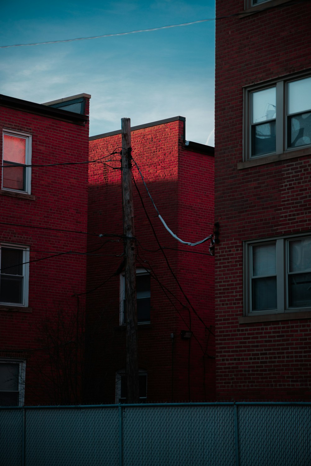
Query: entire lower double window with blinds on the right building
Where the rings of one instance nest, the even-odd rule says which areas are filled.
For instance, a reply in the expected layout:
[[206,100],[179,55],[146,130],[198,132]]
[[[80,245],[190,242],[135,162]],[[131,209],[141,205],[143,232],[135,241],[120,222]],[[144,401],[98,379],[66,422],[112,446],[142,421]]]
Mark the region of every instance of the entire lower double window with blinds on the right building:
[[246,315],[311,310],[311,236],[244,243]]

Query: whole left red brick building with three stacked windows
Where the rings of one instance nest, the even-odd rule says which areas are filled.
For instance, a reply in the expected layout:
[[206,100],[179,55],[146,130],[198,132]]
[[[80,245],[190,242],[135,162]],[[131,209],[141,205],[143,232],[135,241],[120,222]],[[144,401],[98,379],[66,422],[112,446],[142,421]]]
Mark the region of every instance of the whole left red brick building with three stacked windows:
[[79,397],[65,359],[81,361],[73,295],[85,291],[89,98],[0,96],[0,404]]

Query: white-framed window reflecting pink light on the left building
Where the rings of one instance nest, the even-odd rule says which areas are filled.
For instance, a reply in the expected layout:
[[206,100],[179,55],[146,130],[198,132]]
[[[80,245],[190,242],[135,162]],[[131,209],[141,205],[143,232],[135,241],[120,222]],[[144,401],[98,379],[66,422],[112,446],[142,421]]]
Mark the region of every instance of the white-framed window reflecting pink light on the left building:
[[31,135],[3,131],[2,189],[30,194]]

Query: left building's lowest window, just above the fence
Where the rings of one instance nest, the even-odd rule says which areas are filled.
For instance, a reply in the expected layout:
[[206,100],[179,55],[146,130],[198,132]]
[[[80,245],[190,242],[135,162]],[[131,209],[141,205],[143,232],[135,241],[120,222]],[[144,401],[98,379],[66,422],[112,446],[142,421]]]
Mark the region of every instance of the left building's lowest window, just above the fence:
[[24,404],[25,361],[0,359],[0,406]]

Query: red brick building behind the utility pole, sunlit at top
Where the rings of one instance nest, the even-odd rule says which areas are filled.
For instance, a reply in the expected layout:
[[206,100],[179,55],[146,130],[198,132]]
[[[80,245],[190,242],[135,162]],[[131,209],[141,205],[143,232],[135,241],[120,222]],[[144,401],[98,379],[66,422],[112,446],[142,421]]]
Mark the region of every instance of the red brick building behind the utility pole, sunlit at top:
[[[88,400],[94,403],[126,398],[120,133],[90,137],[88,231],[97,237],[88,237],[94,255],[88,256],[86,377]],[[214,148],[186,142],[183,117],[131,128],[131,148],[173,233],[190,242],[212,233]],[[191,247],[175,240],[160,222],[135,163],[132,173],[140,397],[150,402],[214,399],[210,242]]]

